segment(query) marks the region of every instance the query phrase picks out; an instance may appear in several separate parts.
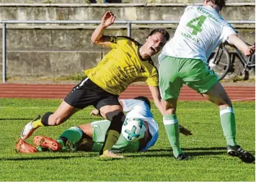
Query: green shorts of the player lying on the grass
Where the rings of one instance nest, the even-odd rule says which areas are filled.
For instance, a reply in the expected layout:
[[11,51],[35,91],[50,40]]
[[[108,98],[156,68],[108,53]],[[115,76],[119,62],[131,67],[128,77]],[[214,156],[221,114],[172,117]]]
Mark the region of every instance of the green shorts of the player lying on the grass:
[[[102,120],[98,122],[92,122],[93,128],[93,137],[92,140],[94,142],[92,146],[93,152],[100,152],[102,149],[103,142],[105,141],[105,135],[108,127],[110,127],[110,121]],[[112,150],[120,151],[120,152],[138,152],[139,142],[129,142],[123,137],[121,134],[118,142],[112,147]]]

